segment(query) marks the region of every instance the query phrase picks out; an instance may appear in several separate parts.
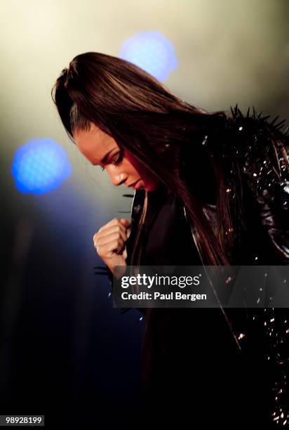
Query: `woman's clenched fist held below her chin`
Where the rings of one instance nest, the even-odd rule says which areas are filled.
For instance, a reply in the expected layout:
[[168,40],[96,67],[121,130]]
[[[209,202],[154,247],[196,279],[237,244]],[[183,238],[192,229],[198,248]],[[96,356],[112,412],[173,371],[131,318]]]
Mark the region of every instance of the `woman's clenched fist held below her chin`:
[[96,252],[110,271],[114,266],[126,266],[126,240],[130,235],[131,221],[114,218],[93,236]]

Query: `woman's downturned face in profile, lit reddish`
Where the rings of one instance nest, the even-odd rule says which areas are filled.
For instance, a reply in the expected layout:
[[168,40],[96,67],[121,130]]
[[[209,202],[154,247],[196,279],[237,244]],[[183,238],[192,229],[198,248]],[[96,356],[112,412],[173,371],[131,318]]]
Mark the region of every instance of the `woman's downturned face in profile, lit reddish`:
[[112,185],[124,184],[135,190],[154,191],[161,185],[142,163],[133,157],[128,150],[119,148],[112,136],[90,123],[89,131],[74,133],[74,141],[91,164],[99,165],[106,170]]

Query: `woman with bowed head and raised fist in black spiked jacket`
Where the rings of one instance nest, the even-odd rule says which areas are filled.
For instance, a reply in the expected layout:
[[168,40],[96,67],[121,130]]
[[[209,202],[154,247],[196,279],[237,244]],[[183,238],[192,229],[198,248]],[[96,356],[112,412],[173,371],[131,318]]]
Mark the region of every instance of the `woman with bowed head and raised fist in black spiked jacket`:
[[[231,116],[206,112],[102,53],[76,56],[53,91],[83,155],[113,185],[135,189],[131,220],[109,221],[93,237],[110,280],[114,266],[288,265],[283,122],[243,116],[237,105]],[[288,423],[287,356],[278,366],[286,309],[140,311],[147,422]],[[279,324],[270,363],[268,318]]]

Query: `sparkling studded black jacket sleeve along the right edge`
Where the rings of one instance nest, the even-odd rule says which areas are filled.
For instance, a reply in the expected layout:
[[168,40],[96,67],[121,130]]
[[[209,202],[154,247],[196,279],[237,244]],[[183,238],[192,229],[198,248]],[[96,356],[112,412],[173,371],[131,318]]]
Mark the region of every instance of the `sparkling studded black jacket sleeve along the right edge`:
[[[257,216],[256,226],[260,226],[266,241],[264,254],[268,251],[268,265],[289,264],[289,136],[287,129],[281,131],[281,122],[267,122],[268,117],[254,114],[244,117],[235,107],[232,111],[236,137],[236,158],[243,185],[248,196],[248,213]],[[233,159],[232,157],[231,159]],[[253,237],[257,234],[250,230]],[[251,239],[252,247],[255,246]],[[231,309],[235,311],[235,309]],[[246,310],[247,320],[244,330],[246,351],[250,360],[256,358],[267,380],[268,406],[271,421],[280,418],[285,424],[288,410],[288,308],[250,308]],[[248,344],[246,344],[246,341]],[[261,360],[262,358],[262,360]],[[249,364],[250,364],[249,360]],[[281,419],[282,417],[284,419]],[[283,423],[284,422],[284,423]],[[278,424],[278,421],[277,421]]]

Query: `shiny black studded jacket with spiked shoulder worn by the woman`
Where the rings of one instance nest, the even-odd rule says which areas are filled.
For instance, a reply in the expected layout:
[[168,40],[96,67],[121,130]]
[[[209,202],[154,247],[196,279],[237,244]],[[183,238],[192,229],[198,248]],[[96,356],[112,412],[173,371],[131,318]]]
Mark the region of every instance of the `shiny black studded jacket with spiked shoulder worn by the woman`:
[[[267,117],[257,116],[255,110],[252,116],[249,116],[248,112],[244,117],[236,106],[232,110],[231,119],[226,119],[220,129],[215,129],[213,134],[208,133],[205,136],[205,144],[208,145],[212,156],[226,157],[227,163],[224,166],[227,169],[225,174],[228,177],[229,188],[230,184],[234,185],[236,182],[236,169],[241,171],[243,202],[246,206],[243,219],[245,228],[236,229],[239,237],[236,237],[236,247],[230,257],[231,265],[288,265],[289,263],[289,171],[284,160],[287,156],[284,148],[288,145],[289,138],[286,133],[280,131],[280,124],[274,124],[274,122],[269,124]],[[187,161],[187,155],[183,155],[180,159],[183,166]],[[145,192],[139,190],[135,192],[133,198],[132,231],[126,244],[127,261],[133,247],[144,197]],[[204,202],[203,212],[211,225],[217,228],[216,204]],[[185,207],[184,214],[187,216]],[[187,222],[189,223],[189,219]],[[190,225],[190,228],[196,249],[202,259],[198,232],[193,225]],[[108,275],[112,282],[112,273],[108,271]],[[285,374],[288,372],[288,364],[284,364],[288,363],[289,334],[286,331],[289,327],[288,309],[268,309],[266,313],[264,309],[250,309],[248,312],[246,309],[227,308],[222,312],[239,351],[246,349],[246,339],[250,340],[250,330],[263,339],[260,341],[260,345],[264,347],[262,353],[264,355],[271,353],[270,363],[274,363],[274,366],[270,371],[275,374],[273,379],[278,381],[275,389],[281,390],[281,394],[276,396],[283,396],[276,400],[272,414],[275,413],[275,417],[280,415],[282,408],[284,414],[284,403],[288,401],[284,397],[288,395],[284,394]],[[270,343],[266,327],[271,320],[275,320],[278,341]],[[282,361],[283,366],[278,364]],[[286,407],[288,410],[288,404]],[[281,421],[280,419],[282,424]]]

